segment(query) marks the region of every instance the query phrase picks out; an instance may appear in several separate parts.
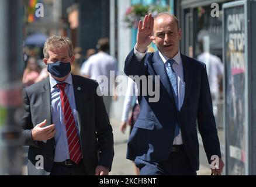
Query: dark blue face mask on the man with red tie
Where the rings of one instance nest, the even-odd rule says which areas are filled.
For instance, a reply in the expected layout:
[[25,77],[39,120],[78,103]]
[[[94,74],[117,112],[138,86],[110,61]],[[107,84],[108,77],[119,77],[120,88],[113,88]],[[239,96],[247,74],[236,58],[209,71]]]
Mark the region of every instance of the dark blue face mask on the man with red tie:
[[54,77],[63,78],[70,73],[71,65],[70,63],[57,61],[56,63],[48,64],[47,71]]

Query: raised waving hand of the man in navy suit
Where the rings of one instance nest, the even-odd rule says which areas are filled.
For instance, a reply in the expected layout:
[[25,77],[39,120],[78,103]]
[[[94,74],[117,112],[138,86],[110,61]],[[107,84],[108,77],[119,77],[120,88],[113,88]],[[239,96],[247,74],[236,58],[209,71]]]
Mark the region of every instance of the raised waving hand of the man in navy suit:
[[137,46],[136,50],[140,53],[145,53],[147,46],[155,39],[153,34],[154,27],[154,18],[152,18],[151,14],[146,15],[142,21],[139,22],[138,32],[137,32]]

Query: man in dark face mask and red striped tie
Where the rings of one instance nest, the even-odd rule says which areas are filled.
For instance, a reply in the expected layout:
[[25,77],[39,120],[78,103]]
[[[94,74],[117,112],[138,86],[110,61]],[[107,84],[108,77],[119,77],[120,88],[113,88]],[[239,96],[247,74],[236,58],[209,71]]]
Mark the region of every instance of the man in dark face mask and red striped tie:
[[70,39],[44,44],[49,78],[24,89],[23,137],[29,175],[108,175],[113,133],[98,83],[72,75]]

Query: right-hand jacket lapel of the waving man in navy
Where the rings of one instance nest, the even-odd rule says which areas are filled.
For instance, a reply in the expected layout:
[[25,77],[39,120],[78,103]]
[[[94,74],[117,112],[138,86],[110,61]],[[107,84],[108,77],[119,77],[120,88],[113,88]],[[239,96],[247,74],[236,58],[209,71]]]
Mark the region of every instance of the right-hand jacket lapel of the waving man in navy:
[[186,101],[188,100],[189,93],[191,91],[191,68],[189,64],[189,60],[186,56],[181,54],[182,64],[183,64],[183,72],[184,72],[184,82],[185,82],[185,96],[184,96],[184,102],[182,104],[182,107],[185,105]]

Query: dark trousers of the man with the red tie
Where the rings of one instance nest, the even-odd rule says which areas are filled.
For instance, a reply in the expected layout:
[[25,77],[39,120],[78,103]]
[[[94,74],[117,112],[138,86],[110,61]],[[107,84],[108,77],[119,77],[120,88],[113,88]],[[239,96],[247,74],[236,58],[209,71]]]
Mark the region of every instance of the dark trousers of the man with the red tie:
[[50,175],[87,175],[84,162],[79,164],[65,165],[65,162],[54,162]]

